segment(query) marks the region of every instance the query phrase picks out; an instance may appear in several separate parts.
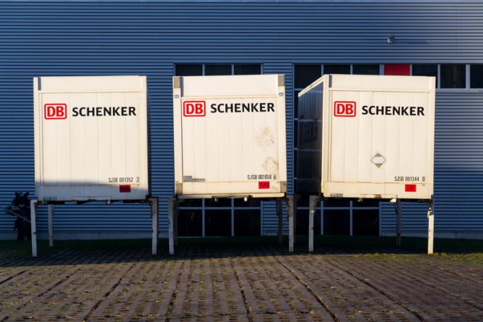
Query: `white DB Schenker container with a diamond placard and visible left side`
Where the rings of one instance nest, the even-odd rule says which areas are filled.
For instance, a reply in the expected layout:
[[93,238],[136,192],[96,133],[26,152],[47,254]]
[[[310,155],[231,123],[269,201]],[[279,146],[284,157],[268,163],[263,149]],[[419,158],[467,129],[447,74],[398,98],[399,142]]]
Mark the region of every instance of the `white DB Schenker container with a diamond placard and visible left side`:
[[298,95],[296,190],[430,199],[434,124],[435,77],[324,75]]

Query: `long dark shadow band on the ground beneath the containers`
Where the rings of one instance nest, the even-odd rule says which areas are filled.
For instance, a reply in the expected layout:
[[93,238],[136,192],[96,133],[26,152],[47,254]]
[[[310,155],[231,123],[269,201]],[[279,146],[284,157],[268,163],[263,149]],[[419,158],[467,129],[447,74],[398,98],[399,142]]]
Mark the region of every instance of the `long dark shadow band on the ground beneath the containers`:
[[[152,262],[196,258],[296,256],[300,254],[425,254],[425,238],[403,237],[401,247],[395,237],[316,236],[315,252],[308,252],[307,236],[295,237],[294,252],[288,252],[288,239],[278,244],[276,237],[180,238],[175,255],[168,254],[168,240],[161,239],[158,254],[151,254],[151,240],[63,240],[48,247],[39,241],[36,258],[30,242],[1,241],[0,267],[45,265],[109,264]],[[435,241],[435,251],[447,254],[481,254],[483,240]]]

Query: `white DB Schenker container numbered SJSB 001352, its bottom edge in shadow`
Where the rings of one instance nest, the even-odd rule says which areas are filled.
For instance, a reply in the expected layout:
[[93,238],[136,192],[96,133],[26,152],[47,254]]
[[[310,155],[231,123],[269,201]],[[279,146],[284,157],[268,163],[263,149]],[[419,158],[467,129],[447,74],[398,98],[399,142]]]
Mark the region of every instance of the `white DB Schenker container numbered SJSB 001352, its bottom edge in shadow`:
[[146,199],[145,76],[36,77],[33,87],[38,200]]

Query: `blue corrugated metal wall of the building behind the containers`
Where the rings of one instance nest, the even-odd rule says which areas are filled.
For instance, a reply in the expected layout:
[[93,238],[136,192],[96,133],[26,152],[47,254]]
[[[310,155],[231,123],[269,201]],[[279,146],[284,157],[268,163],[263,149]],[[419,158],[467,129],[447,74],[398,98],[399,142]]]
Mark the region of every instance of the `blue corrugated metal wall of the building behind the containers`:
[[[173,193],[175,63],[262,63],[264,73],[285,73],[291,117],[293,63],[483,63],[482,31],[482,1],[1,2],[0,205],[15,190],[34,190],[32,77],[148,76],[152,190],[161,197],[165,232],[165,201]],[[389,34],[396,36],[392,44]],[[483,95],[437,96],[436,231],[483,232]],[[271,232],[274,205],[265,204],[264,230]],[[391,205],[383,208],[383,233],[392,232],[394,212]],[[424,232],[425,209],[404,209],[403,231]],[[0,217],[3,236],[12,222]],[[59,206],[54,222],[56,232],[72,234],[147,236],[150,230],[146,205]],[[46,230],[45,210],[39,225]]]

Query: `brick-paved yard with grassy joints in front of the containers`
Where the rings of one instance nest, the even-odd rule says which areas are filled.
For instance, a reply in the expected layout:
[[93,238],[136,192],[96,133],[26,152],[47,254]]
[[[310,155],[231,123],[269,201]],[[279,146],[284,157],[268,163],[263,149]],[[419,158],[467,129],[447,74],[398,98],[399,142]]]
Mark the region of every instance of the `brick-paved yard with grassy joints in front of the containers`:
[[483,267],[396,247],[0,249],[0,321],[483,321]]

